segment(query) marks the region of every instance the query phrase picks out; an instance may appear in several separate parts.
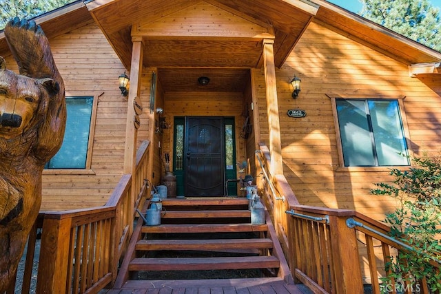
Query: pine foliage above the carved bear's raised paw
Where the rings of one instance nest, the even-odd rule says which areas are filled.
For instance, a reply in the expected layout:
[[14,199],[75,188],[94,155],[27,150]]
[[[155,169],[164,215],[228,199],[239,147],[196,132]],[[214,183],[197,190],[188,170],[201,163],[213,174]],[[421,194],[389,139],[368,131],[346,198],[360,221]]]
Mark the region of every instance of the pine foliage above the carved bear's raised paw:
[[14,17],[32,19],[74,0],[0,0],[0,30]]

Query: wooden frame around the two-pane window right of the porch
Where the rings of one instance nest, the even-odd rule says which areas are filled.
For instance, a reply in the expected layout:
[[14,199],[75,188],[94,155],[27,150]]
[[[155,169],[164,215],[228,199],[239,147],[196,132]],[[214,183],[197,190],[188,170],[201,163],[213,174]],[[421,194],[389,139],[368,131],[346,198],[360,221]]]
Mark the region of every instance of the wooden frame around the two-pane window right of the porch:
[[402,132],[404,135],[404,139],[406,140],[406,151],[409,156],[411,156],[411,141],[409,136],[409,126],[407,125],[407,117],[406,112],[404,112],[404,98],[405,96],[398,97],[386,97],[386,96],[329,96],[331,98],[332,105],[332,114],[334,116],[334,127],[336,129],[336,140],[337,140],[337,150],[338,150],[338,168],[336,171],[389,171],[391,168],[398,168],[401,170],[407,170],[411,167],[412,163],[409,161],[409,165],[384,165],[384,166],[371,166],[371,167],[346,167],[345,166],[345,158],[343,156],[343,147],[342,147],[342,138],[340,135],[340,124],[338,122],[338,112],[337,112],[337,99],[345,99],[345,100],[393,100],[398,102],[398,110],[400,112],[401,124],[402,124]]

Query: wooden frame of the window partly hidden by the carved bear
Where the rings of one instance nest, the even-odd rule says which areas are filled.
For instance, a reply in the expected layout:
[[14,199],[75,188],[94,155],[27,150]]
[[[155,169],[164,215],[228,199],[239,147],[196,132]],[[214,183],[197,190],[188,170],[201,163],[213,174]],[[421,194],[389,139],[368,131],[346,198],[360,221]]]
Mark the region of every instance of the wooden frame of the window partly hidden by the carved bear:
[[92,97],[92,113],[90,115],[90,128],[89,128],[89,140],[88,140],[88,151],[86,152],[85,168],[84,169],[43,169],[43,174],[95,174],[92,170],[92,149],[94,144],[94,134],[96,126],[96,111],[98,106],[99,96],[96,94],[70,94],[65,95],[65,97]]

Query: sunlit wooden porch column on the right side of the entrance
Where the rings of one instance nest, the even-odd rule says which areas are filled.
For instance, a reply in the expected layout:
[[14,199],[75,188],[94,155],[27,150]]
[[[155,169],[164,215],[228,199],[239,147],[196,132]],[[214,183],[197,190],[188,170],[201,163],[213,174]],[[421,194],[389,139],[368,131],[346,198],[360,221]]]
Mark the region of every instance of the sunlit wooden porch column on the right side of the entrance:
[[267,116],[269,127],[270,172],[272,175],[283,174],[282,145],[280,143],[280,123],[278,119],[278,101],[276,85],[276,66],[274,65],[274,40],[263,40],[263,67],[267,94]]

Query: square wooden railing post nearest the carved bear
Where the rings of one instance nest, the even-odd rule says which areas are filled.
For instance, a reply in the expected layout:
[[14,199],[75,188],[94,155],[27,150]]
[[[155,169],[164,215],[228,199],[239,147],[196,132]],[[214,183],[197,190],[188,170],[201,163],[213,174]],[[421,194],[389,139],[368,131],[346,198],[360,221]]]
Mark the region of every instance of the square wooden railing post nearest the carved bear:
[[68,291],[66,286],[71,224],[71,218],[45,218],[43,220],[37,293],[67,293]]

